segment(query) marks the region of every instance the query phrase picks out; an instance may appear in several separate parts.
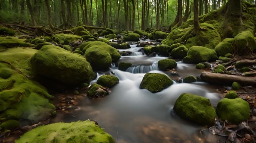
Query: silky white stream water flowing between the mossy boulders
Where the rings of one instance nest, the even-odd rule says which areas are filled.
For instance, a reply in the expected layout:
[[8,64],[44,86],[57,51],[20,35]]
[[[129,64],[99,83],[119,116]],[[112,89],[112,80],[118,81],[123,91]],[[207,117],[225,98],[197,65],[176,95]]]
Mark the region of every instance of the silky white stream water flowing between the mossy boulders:
[[[119,60],[133,64],[127,71],[120,71],[112,64],[109,71],[119,78],[119,83],[111,88],[110,95],[101,99],[85,98],[79,111],[72,116],[58,112],[52,122],[94,119],[115,140],[118,137],[118,143],[197,143],[204,142],[205,136],[208,137],[207,142],[216,142],[216,137],[210,133],[202,137],[200,130],[206,129],[204,126],[179,118],[173,106],[182,93],[193,93],[210,99],[216,107],[222,96],[216,89],[222,87],[200,81],[176,83],[175,79],[188,75],[199,76],[202,70],[196,69],[194,64],[178,61],[176,73],[162,72],[158,69],[157,61],[167,57],[149,57],[139,52],[139,49],[131,45],[131,49],[123,50],[132,51],[131,56],[122,56]],[[98,72],[98,77],[109,71]],[[174,84],[158,93],[139,89],[144,74],[148,72],[167,74]]]

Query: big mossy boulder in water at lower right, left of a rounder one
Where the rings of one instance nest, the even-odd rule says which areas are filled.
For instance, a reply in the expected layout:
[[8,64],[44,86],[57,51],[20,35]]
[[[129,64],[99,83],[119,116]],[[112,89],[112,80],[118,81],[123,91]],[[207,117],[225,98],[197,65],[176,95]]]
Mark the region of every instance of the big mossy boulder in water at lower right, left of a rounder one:
[[183,93],[176,100],[173,110],[180,117],[211,127],[215,124],[216,112],[210,100],[190,93]]

